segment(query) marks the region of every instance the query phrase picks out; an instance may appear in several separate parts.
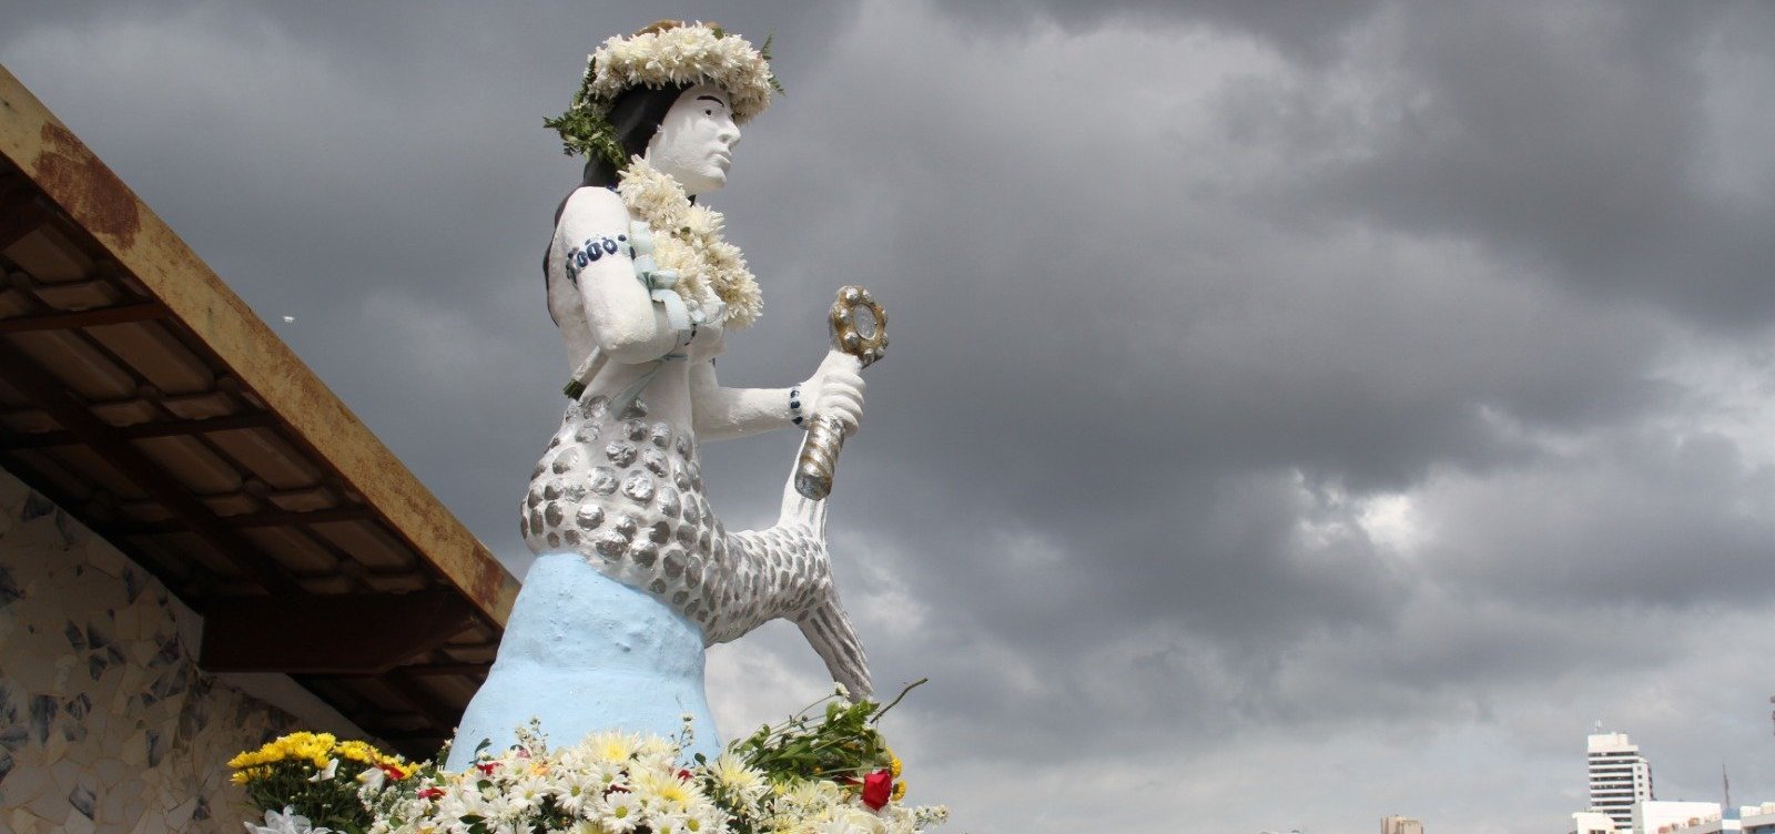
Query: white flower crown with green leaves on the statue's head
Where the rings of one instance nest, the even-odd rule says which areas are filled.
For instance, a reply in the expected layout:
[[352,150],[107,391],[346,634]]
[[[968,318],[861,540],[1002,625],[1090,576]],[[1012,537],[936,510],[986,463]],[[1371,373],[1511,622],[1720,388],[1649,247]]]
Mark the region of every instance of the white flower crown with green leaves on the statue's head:
[[728,92],[733,121],[746,124],[770,106],[783,87],[770,75],[770,39],[753,48],[714,23],[662,20],[628,37],[614,35],[586,57],[586,75],[564,114],[543,119],[561,133],[568,156],[604,156],[616,169],[628,165],[611,126],[611,106],[635,87],[714,83]]

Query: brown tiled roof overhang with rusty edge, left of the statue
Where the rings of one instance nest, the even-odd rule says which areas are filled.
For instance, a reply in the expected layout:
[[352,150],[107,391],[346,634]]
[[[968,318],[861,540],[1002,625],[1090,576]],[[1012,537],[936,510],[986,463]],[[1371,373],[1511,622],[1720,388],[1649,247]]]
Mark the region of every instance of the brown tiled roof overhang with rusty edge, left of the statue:
[[286,673],[430,754],[518,582],[0,67],[0,467]]

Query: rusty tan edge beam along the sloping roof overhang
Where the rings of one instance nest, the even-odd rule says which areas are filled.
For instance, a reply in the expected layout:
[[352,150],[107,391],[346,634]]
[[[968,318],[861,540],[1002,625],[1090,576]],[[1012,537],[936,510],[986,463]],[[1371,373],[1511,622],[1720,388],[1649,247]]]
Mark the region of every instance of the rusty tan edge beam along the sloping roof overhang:
[[0,66],[0,156],[133,273],[406,541],[504,626],[518,580],[227,284]]

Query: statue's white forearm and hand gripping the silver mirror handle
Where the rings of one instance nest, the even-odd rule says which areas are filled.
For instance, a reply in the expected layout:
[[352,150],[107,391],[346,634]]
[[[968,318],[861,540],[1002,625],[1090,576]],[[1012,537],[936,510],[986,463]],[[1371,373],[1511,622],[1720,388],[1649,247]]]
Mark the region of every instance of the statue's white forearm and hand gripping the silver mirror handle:
[[722,389],[715,382],[714,362],[690,366],[690,419],[698,440],[795,426],[797,415],[806,428],[808,421],[822,413],[836,415],[847,435],[854,435],[863,419],[863,376],[857,374],[856,360],[843,353],[827,353],[813,376],[795,389]]

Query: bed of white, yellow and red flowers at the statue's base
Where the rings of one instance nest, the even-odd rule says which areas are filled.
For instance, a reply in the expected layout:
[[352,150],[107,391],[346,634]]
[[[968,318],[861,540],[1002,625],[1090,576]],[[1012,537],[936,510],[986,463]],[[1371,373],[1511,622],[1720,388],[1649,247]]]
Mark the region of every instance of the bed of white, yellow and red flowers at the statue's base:
[[[607,731],[557,749],[531,724],[517,745],[481,749],[463,772],[382,758],[371,763],[380,777],[366,777],[339,765],[343,756],[311,754],[316,738],[328,749],[343,745],[309,733],[229,765],[266,814],[263,827],[248,823],[254,834],[912,834],[948,811],[900,804],[902,765],[875,729],[891,706],[852,703],[840,688],[712,761],[701,754],[682,761],[690,740],[685,720],[676,738]],[[268,751],[304,756],[273,761]]]

